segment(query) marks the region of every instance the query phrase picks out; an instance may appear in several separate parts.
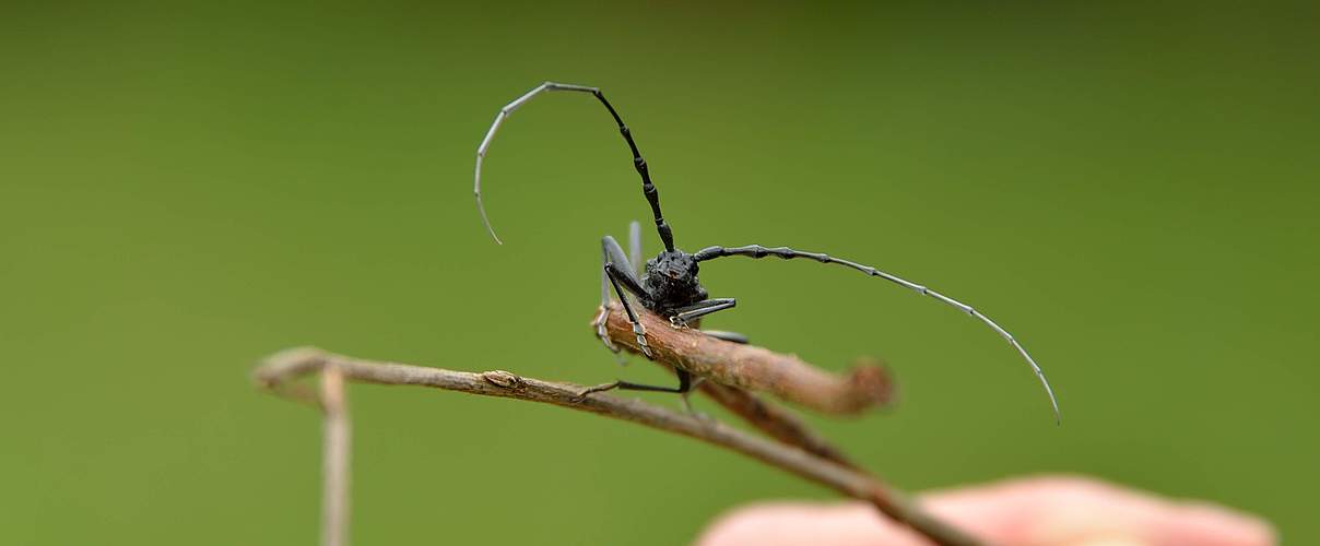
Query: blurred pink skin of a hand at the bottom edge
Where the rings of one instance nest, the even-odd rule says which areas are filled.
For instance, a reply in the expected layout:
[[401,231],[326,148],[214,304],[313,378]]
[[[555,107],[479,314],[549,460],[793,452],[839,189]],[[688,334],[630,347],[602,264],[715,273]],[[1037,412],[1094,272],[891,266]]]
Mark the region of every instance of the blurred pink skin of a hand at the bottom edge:
[[[941,491],[927,508],[1002,546],[1269,546],[1263,520],[1228,508],[1175,501],[1086,477],[1044,476]],[[768,502],[722,516],[700,546],[928,546],[859,502]]]

